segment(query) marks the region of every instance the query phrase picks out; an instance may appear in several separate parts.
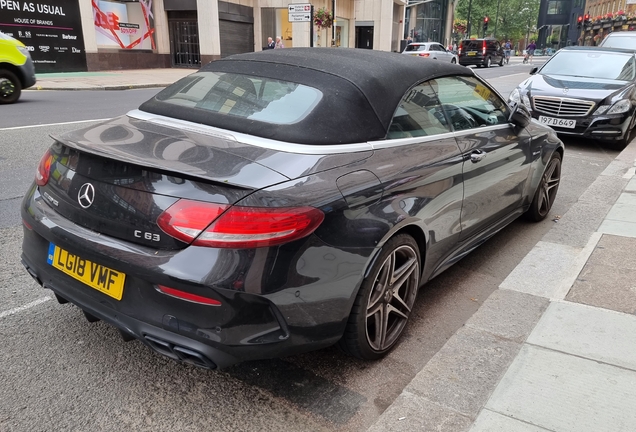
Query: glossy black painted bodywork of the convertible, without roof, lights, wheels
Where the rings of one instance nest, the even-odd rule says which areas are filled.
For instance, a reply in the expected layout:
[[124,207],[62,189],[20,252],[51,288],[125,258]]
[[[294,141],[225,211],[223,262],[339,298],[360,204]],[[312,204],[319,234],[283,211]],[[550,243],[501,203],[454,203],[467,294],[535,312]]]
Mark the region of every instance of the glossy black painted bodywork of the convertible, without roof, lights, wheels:
[[[324,154],[195,129],[124,116],[57,138],[51,180],[34,184],[22,204],[22,259],[60,298],[162,354],[206,367],[335,343],[388,239],[408,233],[417,241],[424,283],[522,214],[552,154],[563,152],[553,131],[536,122]],[[487,153],[484,163],[471,161],[475,151]],[[78,187],[85,182],[108,204],[80,208]],[[325,219],[308,237],[256,249],[133,235],[135,229],[162,235],[156,215],[179,198],[312,206]],[[48,265],[50,243],[124,272],[121,301]],[[175,299],[157,285],[221,306]]]

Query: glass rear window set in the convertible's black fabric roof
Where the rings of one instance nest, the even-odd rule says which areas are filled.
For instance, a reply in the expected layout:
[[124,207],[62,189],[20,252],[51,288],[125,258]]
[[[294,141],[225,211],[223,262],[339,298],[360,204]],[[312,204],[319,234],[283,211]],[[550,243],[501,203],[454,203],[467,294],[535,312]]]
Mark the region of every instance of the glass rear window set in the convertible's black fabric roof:
[[302,84],[225,72],[197,72],[161,92],[157,100],[274,124],[292,124],[322,99],[322,92]]

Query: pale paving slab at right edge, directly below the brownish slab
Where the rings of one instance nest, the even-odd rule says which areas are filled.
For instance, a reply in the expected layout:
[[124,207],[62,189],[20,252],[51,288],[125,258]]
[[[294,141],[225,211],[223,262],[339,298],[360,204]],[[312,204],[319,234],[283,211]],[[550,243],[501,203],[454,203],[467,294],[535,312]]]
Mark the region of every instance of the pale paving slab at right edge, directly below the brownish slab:
[[636,371],[635,334],[636,316],[555,302],[528,343]]

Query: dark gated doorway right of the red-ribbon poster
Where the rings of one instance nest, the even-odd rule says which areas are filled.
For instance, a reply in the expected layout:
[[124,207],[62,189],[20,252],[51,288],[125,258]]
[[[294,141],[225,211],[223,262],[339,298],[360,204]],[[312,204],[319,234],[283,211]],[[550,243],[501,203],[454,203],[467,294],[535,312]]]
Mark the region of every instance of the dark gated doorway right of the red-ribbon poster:
[[197,20],[168,20],[172,66],[201,67]]

